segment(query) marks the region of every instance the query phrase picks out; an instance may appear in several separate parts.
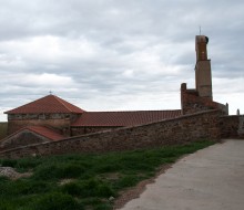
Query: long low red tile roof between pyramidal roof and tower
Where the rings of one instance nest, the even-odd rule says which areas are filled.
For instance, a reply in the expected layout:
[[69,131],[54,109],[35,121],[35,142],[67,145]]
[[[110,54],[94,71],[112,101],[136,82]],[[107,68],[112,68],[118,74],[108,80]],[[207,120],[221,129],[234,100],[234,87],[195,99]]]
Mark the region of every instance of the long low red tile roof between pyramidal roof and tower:
[[181,115],[181,111],[132,111],[132,112],[85,112],[73,127],[82,126],[134,126],[162,119],[175,118]]

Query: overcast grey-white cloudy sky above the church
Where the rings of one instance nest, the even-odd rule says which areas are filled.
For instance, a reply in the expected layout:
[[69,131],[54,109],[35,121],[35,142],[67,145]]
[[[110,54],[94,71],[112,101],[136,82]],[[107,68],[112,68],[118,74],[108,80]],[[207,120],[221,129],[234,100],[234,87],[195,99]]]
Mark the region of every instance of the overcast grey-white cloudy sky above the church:
[[214,99],[243,114],[243,0],[0,0],[0,120],[50,91],[85,111],[180,108],[200,25]]

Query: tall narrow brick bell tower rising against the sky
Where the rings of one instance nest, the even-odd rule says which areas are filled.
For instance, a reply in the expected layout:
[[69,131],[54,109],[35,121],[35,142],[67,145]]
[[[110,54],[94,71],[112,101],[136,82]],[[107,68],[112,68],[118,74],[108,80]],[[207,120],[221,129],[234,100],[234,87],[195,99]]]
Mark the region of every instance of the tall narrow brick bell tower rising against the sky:
[[207,59],[206,45],[209,38],[205,35],[195,36],[195,86],[199,96],[213,99],[212,95],[212,75],[211,75],[211,60]]

